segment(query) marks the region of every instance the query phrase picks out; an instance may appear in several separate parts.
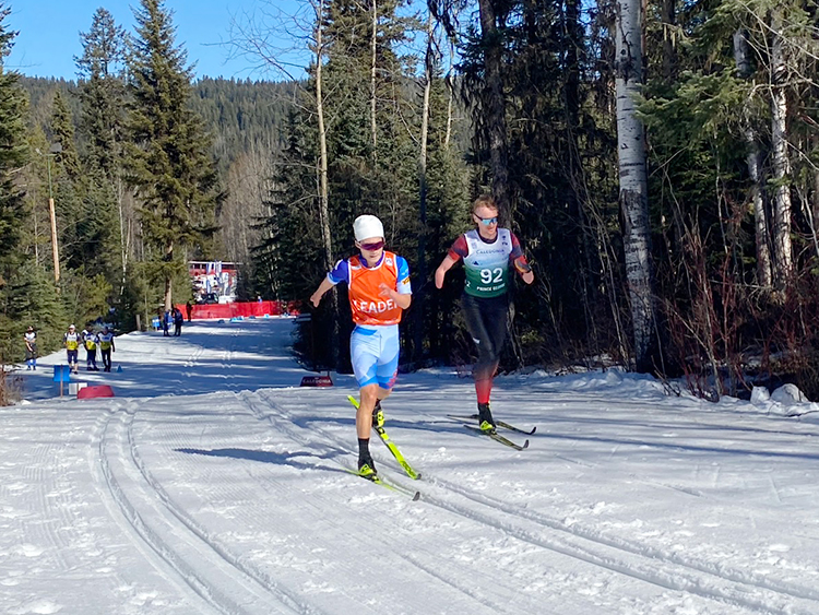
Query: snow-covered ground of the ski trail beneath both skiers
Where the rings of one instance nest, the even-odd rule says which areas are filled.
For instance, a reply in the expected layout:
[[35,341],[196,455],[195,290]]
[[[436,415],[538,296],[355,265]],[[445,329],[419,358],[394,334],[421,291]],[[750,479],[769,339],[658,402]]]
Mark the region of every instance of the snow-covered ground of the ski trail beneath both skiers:
[[[615,371],[402,376],[380,472],[346,471],[351,376],[299,388],[289,319],[117,339],[112,399],[56,398],[51,365],[0,409],[0,613],[819,613],[819,425],[775,401],[668,397]],[[84,353],[82,353],[84,355]],[[520,434],[506,433],[518,441]]]

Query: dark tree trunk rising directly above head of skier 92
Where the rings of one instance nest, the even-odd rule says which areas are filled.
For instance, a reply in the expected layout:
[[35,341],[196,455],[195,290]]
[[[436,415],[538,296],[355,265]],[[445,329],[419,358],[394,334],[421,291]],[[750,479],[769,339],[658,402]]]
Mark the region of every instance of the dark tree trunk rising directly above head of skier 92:
[[494,0],[478,0],[480,38],[484,47],[486,116],[489,135],[489,162],[492,197],[502,216],[511,216],[507,145],[506,95],[503,93],[502,42],[497,26]]

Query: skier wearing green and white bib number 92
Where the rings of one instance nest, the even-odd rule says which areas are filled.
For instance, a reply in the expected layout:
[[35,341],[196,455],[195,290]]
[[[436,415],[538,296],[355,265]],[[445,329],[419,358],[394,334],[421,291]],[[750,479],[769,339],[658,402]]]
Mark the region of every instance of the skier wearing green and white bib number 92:
[[442,288],[447,272],[463,259],[466,283],[461,305],[466,328],[478,352],[472,371],[478,425],[489,433],[496,428],[489,407],[492,379],[509,332],[510,263],[526,284],[532,284],[535,279],[518,237],[510,229],[498,226],[498,205],[491,197],[478,198],[472,208],[476,228],[455,239],[435,272],[435,285]]

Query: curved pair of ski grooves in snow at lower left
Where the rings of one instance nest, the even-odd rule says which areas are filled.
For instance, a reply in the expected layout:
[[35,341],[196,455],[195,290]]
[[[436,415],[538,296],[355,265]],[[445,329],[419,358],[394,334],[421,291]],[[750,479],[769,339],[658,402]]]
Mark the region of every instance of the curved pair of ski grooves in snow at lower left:
[[[138,544],[153,552],[163,567],[171,569],[214,612],[320,614],[309,605],[299,604],[272,580],[242,566],[173,506],[140,466],[131,434],[135,409],[136,402],[131,402],[100,418],[96,434],[98,458],[94,462],[99,466],[104,489],[124,518],[126,529],[135,534]],[[237,595],[248,596],[252,603],[249,600],[238,603],[229,598]],[[271,604],[273,601],[275,604]]]

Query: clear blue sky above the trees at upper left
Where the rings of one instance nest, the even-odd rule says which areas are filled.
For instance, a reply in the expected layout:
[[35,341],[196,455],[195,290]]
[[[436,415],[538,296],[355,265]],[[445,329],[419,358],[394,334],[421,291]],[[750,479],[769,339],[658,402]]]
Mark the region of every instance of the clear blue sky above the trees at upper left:
[[[5,67],[31,76],[76,79],[74,56],[82,54],[80,33],[91,29],[94,12],[105,8],[133,33],[131,7],[138,7],[139,0],[4,0],[4,4],[12,11],[4,25],[20,32]],[[177,46],[188,51],[189,64],[197,63],[198,78],[275,76],[254,71],[248,59],[228,60],[229,49],[224,46],[232,17],[241,19],[265,4],[286,9],[295,0],[165,0],[165,8],[174,11]]]

